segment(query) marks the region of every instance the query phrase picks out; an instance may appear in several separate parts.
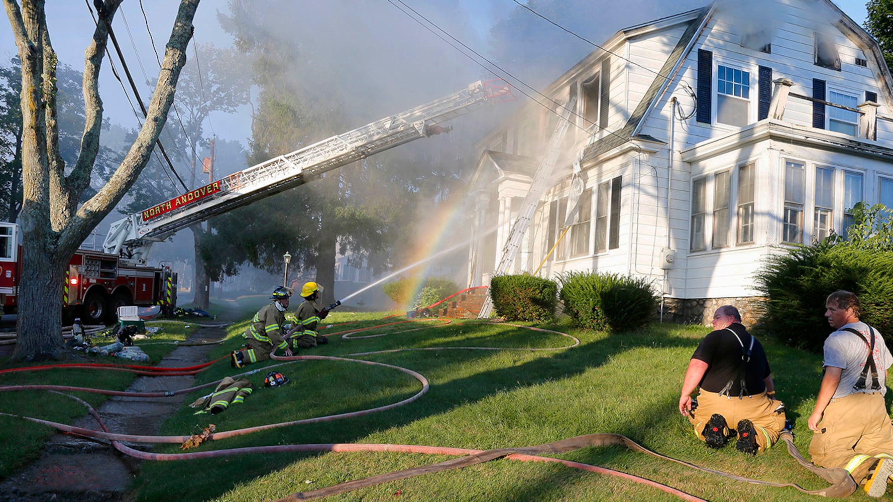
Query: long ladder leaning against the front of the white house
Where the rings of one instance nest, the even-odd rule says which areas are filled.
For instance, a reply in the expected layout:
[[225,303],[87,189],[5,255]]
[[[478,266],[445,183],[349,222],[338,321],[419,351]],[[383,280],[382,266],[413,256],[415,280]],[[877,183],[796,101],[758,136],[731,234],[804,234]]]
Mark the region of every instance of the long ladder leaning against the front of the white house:
[[[555,169],[555,163],[558,162],[558,155],[561,154],[564,133],[567,132],[568,126],[571,125],[569,119],[573,107],[576,104],[577,98],[572,97],[567,105],[564,105],[561,120],[558,121],[558,126],[555,128],[555,132],[552,133],[552,138],[549,139],[546,155],[543,156],[543,160],[540,161],[537,172],[533,175],[533,181],[530,183],[530,190],[528,190],[527,196],[524,197],[521,210],[518,212],[518,217],[512,225],[512,230],[509,232],[508,238],[505,239],[502,257],[499,259],[499,264],[497,264],[496,270],[493,271],[493,277],[507,272],[509,266],[513,264],[514,256],[518,253],[518,248],[521,247],[524,234],[526,234],[527,229],[530,228],[530,221],[533,219],[533,213],[536,213],[537,211],[539,201],[543,198],[546,190],[552,187],[552,172]],[[488,295],[487,300],[484,301],[484,305],[480,307],[478,319],[489,317],[492,310],[493,300],[491,300]]]

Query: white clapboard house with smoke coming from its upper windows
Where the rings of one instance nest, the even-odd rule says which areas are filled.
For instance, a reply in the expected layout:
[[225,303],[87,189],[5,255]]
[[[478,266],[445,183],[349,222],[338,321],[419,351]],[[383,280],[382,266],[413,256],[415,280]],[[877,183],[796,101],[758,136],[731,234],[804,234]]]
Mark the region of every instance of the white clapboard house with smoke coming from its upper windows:
[[[766,255],[843,233],[858,201],[893,207],[878,43],[828,0],[732,4],[622,29],[481,140],[470,283],[499,261],[558,121],[550,101],[572,96],[563,177],[509,272],[630,273],[677,321],[725,303],[753,319]],[[584,191],[565,225],[575,161]]]

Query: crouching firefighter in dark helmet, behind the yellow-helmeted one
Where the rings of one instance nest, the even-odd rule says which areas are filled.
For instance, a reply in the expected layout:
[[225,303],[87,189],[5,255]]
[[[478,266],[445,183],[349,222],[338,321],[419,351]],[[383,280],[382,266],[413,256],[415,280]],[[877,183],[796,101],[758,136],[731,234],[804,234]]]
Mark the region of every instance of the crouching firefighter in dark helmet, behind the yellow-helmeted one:
[[282,324],[285,323],[285,311],[288,309],[288,297],[294,292],[291,288],[280,286],[273,291],[270,305],[264,305],[251,320],[248,329],[242,334],[246,338],[246,348],[232,352],[232,367],[241,368],[246,364],[270,359],[277,348],[285,350],[291,356],[291,347],[283,338]]

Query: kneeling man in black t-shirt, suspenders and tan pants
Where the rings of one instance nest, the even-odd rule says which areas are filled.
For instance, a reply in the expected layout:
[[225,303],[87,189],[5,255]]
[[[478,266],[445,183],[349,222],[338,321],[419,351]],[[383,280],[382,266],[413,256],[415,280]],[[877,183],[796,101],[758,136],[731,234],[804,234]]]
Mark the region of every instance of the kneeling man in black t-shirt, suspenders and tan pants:
[[[739,451],[756,454],[778,441],[785,428],[784,405],[775,399],[763,346],[741,325],[738,309],[719,307],[713,324],[714,331],[691,356],[679,411],[707,446],[722,448],[737,435]],[[735,431],[730,423],[737,423]]]

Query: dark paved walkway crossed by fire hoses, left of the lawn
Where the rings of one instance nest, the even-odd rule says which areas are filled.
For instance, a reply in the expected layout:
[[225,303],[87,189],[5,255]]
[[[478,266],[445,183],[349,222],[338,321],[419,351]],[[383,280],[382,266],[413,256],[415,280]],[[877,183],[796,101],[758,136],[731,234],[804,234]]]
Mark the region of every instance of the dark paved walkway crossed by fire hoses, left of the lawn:
[[[222,327],[202,328],[187,341],[216,341],[225,335],[226,330]],[[211,347],[177,347],[158,366],[171,368],[202,364]],[[154,392],[185,389],[191,387],[194,380],[192,376],[138,377],[128,390]],[[158,432],[164,420],[179,406],[185,406],[184,398],[111,397],[97,412],[109,431],[151,435]],[[99,429],[89,415],[74,425]],[[143,444],[129,446],[146,449]],[[0,482],[0,501],[120,501],[124,500],[124,490],[136,476],[138,468],[137,459],[119,453],[108,443],[60,433],[46,443],[44,454],[38,461]]]

